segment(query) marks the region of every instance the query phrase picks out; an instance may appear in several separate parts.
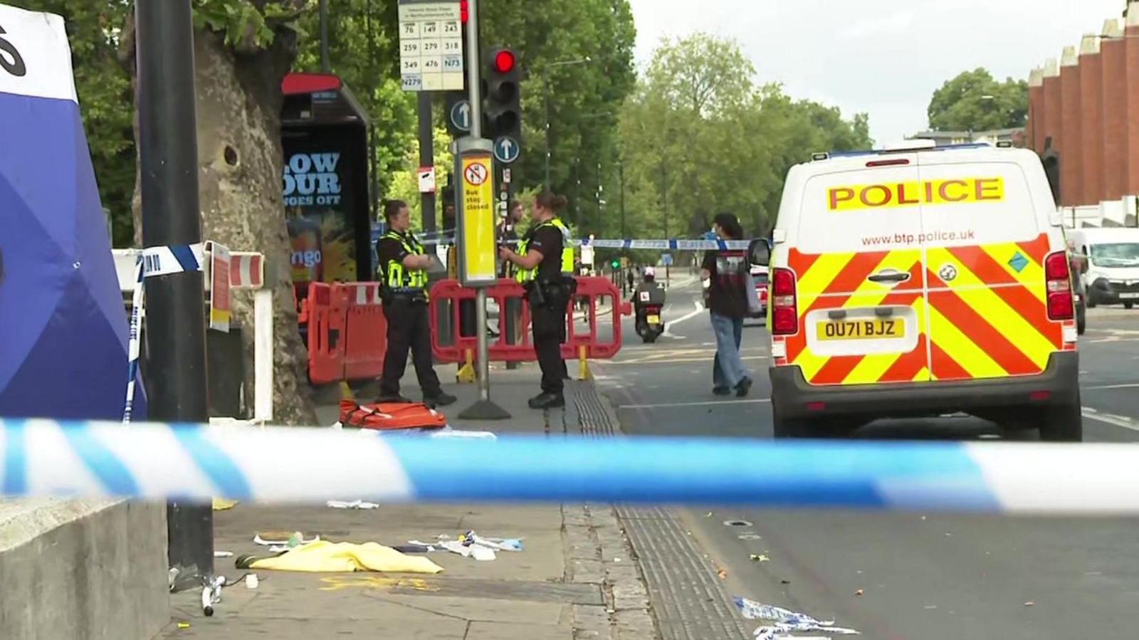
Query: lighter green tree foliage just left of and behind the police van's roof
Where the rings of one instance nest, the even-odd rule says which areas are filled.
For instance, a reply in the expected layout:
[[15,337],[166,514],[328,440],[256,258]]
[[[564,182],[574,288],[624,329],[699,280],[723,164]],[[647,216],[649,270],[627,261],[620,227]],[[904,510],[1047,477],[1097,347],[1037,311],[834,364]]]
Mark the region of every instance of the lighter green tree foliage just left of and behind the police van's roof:
[[871,146],[865,114],[843,120],[778,85],[755,87],[754,74],[730,40],[661,43],[622,109],[626,237],[695,236],[721,211],[763,233],[793,164]]

